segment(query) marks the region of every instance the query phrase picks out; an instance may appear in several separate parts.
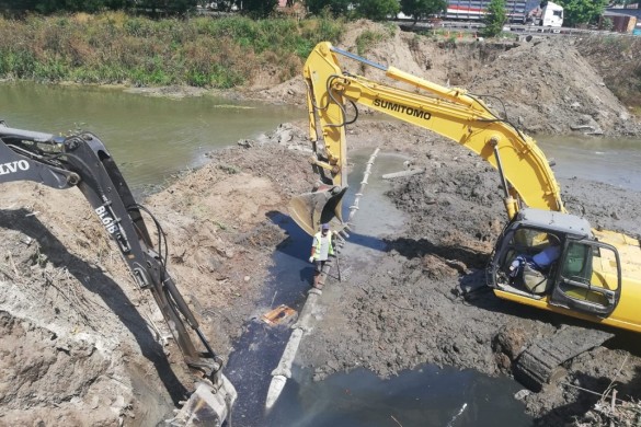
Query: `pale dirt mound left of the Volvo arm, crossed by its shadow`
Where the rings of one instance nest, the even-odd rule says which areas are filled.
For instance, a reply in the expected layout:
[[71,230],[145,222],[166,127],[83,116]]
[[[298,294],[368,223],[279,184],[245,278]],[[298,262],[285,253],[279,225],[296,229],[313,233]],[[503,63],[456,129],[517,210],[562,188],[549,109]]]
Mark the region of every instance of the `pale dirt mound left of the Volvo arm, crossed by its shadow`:
[[0,423],[114,425],[145,406],[135,389],[168,405],[158,376],[135,384],[140,366],[125,367],[141,348],[149,370],[164,355],[80,193],[5,184],[1,198]]

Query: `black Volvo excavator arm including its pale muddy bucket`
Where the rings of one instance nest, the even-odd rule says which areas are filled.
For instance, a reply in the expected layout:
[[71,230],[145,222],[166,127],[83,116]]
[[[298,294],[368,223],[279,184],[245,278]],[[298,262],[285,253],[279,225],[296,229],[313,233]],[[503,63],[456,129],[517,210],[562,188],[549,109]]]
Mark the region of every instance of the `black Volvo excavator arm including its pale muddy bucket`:
[[[0,183],[34,181],[54,188],[77,186],[81,191],[116,243],[138,287],[153,295],[185,363],[201,384],[196,393],[199,401],[206,394],[207,404],[197,403],[205,407],[193,415],[208,417],[213,425],[214,420],[221,424],[236,400],[236,390],[221,373],[222,359],[211,349],[167,270],[167,255],[159,253],[163,247],[167,251],[160,224],[153,219],[157,252],[141,216],[146,209],[134,199],[103,142],[90,132],[55,137],[0,123]],[[192,335],[197,337],[201,349]]]

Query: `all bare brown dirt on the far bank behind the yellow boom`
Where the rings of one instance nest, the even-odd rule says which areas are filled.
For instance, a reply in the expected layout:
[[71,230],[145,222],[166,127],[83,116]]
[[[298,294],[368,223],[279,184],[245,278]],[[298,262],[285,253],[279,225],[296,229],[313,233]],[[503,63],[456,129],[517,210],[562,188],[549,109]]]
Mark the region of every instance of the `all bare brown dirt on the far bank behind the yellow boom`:
[[[365,58],[440,85],[485,95],[484,101],[496,113],[530,134],[641,135],[639,123],[581,56],[575,47],[581,42],[574,38],[456,41],[358,21],[337,47],[357,53],[364,34],[378,39],[365,44]],[[408,89],[384,71],[341,56],[339,60],[350,72]],[[302,79],[296,78],[251,95],[302,104],[305,93]]]

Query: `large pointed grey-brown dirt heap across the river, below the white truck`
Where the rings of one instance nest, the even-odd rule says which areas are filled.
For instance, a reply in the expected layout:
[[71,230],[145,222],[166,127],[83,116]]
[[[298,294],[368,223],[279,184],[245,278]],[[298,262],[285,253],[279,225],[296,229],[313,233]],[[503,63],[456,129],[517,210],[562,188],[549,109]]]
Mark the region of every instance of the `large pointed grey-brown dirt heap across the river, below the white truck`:
[[[477,69],[478,70],[478,69]],[[515,44],[483,61],[465,84],[497,96],[513,122],[531,132],[634,134],[627,108],[579,54],[571,39]],[[495,109],[500,105],[492,103]]]

